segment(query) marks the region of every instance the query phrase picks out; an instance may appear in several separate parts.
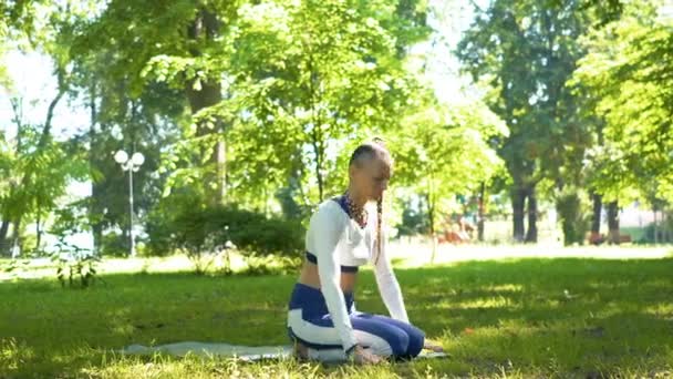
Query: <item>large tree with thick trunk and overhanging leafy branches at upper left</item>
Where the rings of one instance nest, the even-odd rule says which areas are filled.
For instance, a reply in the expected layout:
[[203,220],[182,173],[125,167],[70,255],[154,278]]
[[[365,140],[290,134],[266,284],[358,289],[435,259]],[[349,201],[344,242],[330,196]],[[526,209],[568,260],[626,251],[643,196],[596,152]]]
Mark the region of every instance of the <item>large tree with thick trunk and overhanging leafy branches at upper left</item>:
[[[222,99],[221,35],[237,17],[242,1],[172,1],[167,3],[110,1],[95,20],[82,29],[74,51],[89,54],[93,51],[112,52],[107,61],[111,78],[126,78],[131,98],[137,98],[151,82],[145,78],[148,62],[165,58],[172,74],[179,76],[179,90],[189,103],[193,114],[218,103]],[[156,78],[156,76],[155,76]],[[161,78],[159,78],[161,79]],[[195,123],[196,133],[207,136],[221,131],[224,124]],[[219,203],[224,196],[224,141],[200,152],[208,163],[205,186],[210,202]],[[200,162],[200,160],[199,160]]]

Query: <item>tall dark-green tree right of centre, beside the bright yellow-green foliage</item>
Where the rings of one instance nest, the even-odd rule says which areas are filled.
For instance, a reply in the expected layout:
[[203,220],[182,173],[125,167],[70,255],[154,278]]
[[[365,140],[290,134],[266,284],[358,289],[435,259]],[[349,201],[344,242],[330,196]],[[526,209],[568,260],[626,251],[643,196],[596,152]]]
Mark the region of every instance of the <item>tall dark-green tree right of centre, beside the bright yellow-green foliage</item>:
[[583,155],[593,124],[581,117],[566,81],[583,54],[578,38],[598,19],[587,7],[582,1],[495,1],[458,45],[465,69],[493,89],[489,106],[510,131],[499,154],[514,181],[516,240],[537,240],[540,181],[552,180],[558,191],[578,185],[571,164]]

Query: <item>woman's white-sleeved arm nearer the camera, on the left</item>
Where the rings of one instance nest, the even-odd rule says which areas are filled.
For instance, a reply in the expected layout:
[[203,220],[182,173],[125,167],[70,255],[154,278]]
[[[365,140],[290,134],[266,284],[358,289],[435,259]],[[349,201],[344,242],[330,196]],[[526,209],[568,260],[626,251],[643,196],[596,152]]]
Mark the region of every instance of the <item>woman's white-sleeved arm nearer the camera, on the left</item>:
[[314,249],[311,253],[315,255],[318,260],[320,287],[328,310],[341,338],[343,350],[348,351],[358,344],[358,340],[353,334],[353,326],[341,290],[341,264],[336,254],[336,246],[348,223],[343,222],[340,212],[340,208],[333,207],[331,204],[324,204],[311,217],[310,232],[312,233]]

